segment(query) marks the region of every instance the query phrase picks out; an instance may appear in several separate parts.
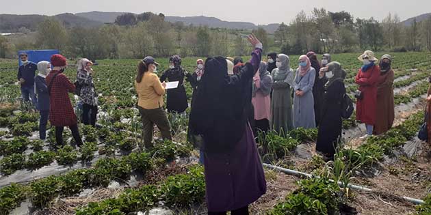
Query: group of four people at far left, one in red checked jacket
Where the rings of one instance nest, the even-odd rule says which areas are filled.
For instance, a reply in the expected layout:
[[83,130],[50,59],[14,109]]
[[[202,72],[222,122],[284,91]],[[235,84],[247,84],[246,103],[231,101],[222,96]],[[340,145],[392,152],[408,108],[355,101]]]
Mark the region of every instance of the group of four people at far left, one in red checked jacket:
[[[71,83],[63,74],[67,66],[66,57],[53,55],[51,62],[40,61],[37,65],[28,60],[26,53],[21,53],[23,64],[18,70],[18,81],[21,83],[23,100],[29,100],[36,106],[40,113],[39,137],[44,140],[47,137],[48,119],[55,126],[55,141],[57,145],[64,145],[63,130],[68,126],[72,131],[77,146],[82,145],[77,126],[77,115],[73,109],[68,93],[77,93],[79,88],[80,104],[82,104],[83,124],[96,126],[97,94],[93,83],[92,61],[81,59],[77,68],[77,81]],[[35,77],[35,72],[38,75]],[[30,93],[24,94],[26,90]],[[34,96],[33,96],[34,94]],[[36,96],[37,95],[37,96]]]

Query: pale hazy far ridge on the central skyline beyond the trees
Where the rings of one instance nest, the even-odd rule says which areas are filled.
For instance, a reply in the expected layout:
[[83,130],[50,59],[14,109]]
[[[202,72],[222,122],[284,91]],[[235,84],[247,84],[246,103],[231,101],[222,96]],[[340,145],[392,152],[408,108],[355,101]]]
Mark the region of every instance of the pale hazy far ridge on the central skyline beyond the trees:
[[[117,16],[125,14],[126,12],[86,12],[86,13],[77,13],[76,16],[81,16],[83,18],[88,18],[91,20],[95,20],[102,23],[114,23]],[[257,29],[257,25],[248,22],[229,22],[220,20],[215,17],[207,17],[207,16],[166,16],[165,20],[170,23],[182,22],[185,25],[194,25],[194,26],[208,26],[208,27],[220,27],[226,29]],[[270,25],[261,25],[259,27],[263,27],[266,31],[273,33],[277,28],[278,24],[270,24]]]

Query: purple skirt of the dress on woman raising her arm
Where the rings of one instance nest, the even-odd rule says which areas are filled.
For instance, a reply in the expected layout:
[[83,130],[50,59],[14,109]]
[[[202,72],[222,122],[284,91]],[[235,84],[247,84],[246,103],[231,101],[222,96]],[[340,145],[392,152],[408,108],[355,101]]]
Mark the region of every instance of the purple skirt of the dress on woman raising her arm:
[[266,192],[265,173],[249,125],[241,141],[226,154],[204,154],[209,212],[236,210]]

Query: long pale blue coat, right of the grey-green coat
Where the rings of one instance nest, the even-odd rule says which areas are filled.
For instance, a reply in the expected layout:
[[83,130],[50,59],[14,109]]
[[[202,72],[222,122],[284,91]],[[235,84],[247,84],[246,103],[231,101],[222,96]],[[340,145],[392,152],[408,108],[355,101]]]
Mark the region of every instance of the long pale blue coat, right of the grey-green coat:
[[315,128],[313,85],[315,70],[310,68],[304,76],[300,76],[300,70],[296,70],[293,89],[304,92],[302,96],[293,96],[293,126],[295,128]]

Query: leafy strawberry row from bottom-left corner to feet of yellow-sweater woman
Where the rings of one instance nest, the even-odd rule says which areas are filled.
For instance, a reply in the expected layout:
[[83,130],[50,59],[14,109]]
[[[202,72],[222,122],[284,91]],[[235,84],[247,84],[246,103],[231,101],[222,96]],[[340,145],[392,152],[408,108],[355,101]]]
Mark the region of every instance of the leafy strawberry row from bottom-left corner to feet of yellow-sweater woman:
[[[108,186],[116,179],[127,180],[133,171],[147,171],[174,160],[177,156],[190,156],[190,147],[170,141],[157,144],[151,153],[131,153],[122,158],[101,158],[90,169],[70,171],[64,175],[51,175],[28,185],[12,184],[0,190],[0,212],[8,214],[25,197],[31,197],[34,207],[46,207],[55,197],[68,197],[84,188]],[[3,204],[4,203],[4,204]]]

